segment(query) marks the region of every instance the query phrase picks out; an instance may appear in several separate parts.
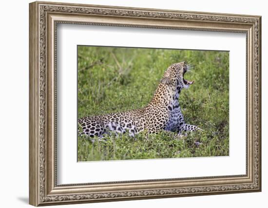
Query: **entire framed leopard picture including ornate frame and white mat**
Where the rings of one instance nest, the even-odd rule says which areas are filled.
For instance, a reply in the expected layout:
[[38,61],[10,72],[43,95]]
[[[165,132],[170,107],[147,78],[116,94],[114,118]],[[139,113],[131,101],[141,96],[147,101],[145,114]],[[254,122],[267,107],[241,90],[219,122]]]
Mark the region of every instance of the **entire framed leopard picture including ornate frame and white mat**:
[[29,204],[261,191],[261,31],[256,15],[30,3]]

